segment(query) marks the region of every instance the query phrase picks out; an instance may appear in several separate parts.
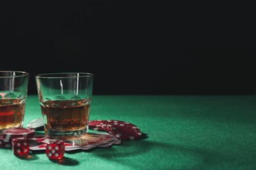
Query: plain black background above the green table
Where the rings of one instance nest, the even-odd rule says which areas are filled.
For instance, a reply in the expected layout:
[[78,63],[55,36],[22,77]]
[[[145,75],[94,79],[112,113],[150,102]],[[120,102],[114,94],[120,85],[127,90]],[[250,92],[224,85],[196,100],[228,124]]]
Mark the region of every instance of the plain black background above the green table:
[[165,3],[0,6],[0,69],[94,73],[96,94],[255,94],[253,7]]

